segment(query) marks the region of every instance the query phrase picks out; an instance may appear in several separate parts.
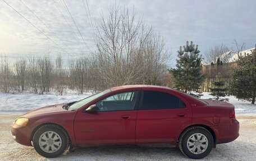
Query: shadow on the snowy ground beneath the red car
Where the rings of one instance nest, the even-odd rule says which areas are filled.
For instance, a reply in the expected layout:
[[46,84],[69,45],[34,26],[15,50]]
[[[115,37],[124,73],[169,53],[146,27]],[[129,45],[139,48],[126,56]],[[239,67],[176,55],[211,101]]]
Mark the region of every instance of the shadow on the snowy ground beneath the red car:
[[158,148],[150,146],[89,146],[75,148],[73,152],[66,152],[59,158],[49,160],[188,160],[179,148]]

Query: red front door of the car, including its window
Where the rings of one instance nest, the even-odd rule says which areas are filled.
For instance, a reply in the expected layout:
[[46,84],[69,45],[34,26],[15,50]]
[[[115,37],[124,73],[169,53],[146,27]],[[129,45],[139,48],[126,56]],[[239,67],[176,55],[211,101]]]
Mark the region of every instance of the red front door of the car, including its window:
[[77,145],[135,144],[138,91],[117,93],[96,103],[97,113],[78,112],[74,121]]

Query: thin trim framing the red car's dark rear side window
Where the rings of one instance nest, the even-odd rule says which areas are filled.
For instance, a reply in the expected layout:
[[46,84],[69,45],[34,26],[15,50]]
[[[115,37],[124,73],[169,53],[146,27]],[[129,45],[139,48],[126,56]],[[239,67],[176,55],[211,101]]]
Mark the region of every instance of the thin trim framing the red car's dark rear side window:
[[[142,105],[143,105],[143,100],[144,100],[144,91],[155,91],[155,92],[162,92],[162,93],[166,93],[166,94],[171,94],[173,96],[176,96],[177,98],[179,98],[182,102],[184,102],[185,104],[185,108],[161,108],[161,109],[142,109]],[[138,110],[163,110],[163,109],[188,109],[188,105],[186,104],[186,102],[184,100],[182,100],[179,96],[172,94],[172,93],[168,93],[166,91],[158,91],[158,90],[141,90],[141,94],[140,94],[140,102],[138,105]]]

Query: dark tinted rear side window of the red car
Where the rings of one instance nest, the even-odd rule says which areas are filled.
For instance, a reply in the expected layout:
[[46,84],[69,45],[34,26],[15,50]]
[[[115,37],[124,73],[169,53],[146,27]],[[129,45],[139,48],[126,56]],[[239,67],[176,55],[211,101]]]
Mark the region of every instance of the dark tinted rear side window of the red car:
[[140,109],[176,109],[186,105],[175,95],[161,91],[144,91]]

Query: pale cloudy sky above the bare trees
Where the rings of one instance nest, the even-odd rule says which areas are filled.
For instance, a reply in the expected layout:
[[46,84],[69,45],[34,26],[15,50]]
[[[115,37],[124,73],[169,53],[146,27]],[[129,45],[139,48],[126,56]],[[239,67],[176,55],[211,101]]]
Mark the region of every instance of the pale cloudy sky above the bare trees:
[[[40,33],[4,1],[60,47]],[[54,54],[61,53],[65,58],[73,58],[82,52],[86,54],[89,49],[95,48],[93,32],[83,0],[65,0],[65,3],[84,40],[61,0],[4,1],[0,0],[0,54],[16,58],[30,54],[43,54],[50,50]],[[45,27],[21,2],[26,4],[54,33]],[[84,2],[87,7],[86,0]],[[148,25],[152,25],[154,31],[161,33],[166,40],[166,47],[172,52],[172,67],[175,63],[177,50],[187,40],[193,40],[195,44],[198,44],[201,54],[207,52],[210,47],[222,43],[231,47],[234,39],[239,43],[245,42],[246,49],[253,48],[256,43],[255,0],[127,0],[120,2],[88,0],[87,2],[92,21],[99,19],[100,12],[103,15],[108,15],[109,7],[115,2],[131,9],[134,7],[138,16],[143,16],[144,21]],[[84,45],[84,41],[87,45]],[[70,54],[65,53],[61,48]]]

